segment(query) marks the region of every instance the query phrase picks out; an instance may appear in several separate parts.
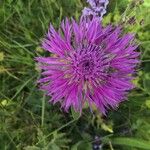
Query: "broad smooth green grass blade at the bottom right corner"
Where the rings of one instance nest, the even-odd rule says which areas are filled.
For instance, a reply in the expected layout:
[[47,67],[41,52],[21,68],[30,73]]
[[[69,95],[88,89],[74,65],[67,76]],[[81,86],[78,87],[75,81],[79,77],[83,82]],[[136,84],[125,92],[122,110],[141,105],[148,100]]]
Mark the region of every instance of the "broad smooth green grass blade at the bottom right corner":
[[115,145],[125,145],[130,147],[142,148],[144,150],[150,150],[150,142],[141,139],[120,137],[112,139],[112,143]]

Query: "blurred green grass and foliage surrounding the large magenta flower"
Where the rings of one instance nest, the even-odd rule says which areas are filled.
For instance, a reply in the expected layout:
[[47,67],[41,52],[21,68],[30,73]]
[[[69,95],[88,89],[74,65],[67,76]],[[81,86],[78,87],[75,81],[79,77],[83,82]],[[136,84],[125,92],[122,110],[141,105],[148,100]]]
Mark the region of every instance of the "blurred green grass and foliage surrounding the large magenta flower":
[[[138,2],[138,0],[136,1]],[[128,101],[102,117],[96,110],[48,104],[34,61],[49,23],[79,18],[85,0],[0,0],[0,150],[150,150],[150,2],[110,0],[103,24],[125,21],[135,32],[141,65]],[[135,17],[134,25],[128,24]]]

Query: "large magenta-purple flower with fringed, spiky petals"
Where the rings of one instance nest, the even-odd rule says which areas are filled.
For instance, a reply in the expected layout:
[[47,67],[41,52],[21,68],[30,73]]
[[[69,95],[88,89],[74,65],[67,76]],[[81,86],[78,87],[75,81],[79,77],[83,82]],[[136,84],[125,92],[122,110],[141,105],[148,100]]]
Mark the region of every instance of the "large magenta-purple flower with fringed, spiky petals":
[[38,57],[42,69],[40,87],[60,102],[82,111],[85,103],[103,114],[116,108],[134,88],[131,83],[139,52],[133,34],[122,34],[121,27],[102,27],[97,19],[76,23],[63,21],[58,32],[50,25],[42,47],[49,57]]

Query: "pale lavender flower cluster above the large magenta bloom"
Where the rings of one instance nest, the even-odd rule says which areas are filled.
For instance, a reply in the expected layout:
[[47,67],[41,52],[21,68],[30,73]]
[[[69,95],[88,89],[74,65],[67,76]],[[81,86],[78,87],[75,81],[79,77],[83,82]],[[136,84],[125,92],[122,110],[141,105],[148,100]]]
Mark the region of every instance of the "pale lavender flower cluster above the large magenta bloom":
[[82,16],[87,20],[91,18],[98,18],[100,21],[106,13],[106,7],[109,3],[108,0],[87,0],[90,8],[85,7],[82,11]]

